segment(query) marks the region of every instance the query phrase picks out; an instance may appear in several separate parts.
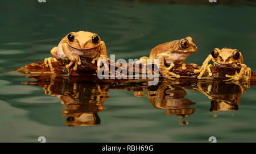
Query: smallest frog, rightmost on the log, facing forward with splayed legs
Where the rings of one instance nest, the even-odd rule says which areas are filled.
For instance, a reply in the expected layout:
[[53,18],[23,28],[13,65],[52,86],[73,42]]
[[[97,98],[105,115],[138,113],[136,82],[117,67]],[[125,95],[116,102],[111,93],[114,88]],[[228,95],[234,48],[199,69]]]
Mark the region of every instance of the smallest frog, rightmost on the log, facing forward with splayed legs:
[[251,77],[251,69],[243,64],[243,56],[242,53],[239,52],[237,49],[228,49],[228,48],[214,48],[212,54],[205,59],[203,65],[200,69],[194,70],[194,73],[199,73],[197,78],[201,78],[206,70],[208,70],[208,75],[212,76],[212,72],[210,70],[211,64],[208,65],[210,61],[213,61],[213,65],[218,68],[233,68],[233,69],[240,69],[240,72],[236,73],[233,76],[226,74],[226,77],[229,77],[228,80],[240,80],[244,75],[246,76],[245,79],[249,80]]

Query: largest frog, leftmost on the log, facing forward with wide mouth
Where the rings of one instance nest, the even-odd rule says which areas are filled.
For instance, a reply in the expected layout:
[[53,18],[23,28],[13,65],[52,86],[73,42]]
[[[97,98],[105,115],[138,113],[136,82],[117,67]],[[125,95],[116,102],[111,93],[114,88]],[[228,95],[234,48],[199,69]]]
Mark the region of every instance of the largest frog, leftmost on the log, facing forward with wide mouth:
[[[75,64],[73,67],[75,71],[77,70],[77,65],[81,65],[80,56],[91,58],[93,64],[97,60],[97,70],[100,69],[101,60],[109,60],[106,55],[104,41],[97,34],[87,31],[69,33],[60,41],[57,47],[51,49],[51,55],[52,57],[44,59],[44,64],[50,68],[51,72],[54,71],[51,64],[52,60],[57,61],[57,59],[68,58],[70,63],[65,65],[65,68],[69,69]],[[104,65],[108,69],[108,65]]]

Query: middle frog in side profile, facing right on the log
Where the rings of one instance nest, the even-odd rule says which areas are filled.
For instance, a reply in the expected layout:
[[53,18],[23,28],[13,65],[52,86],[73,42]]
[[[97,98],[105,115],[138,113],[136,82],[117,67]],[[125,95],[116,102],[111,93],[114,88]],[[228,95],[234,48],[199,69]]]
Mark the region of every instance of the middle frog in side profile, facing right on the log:
[[[143,60],[147,59],[151,59],[153,62],[158,60],[159,72],[164,77],[174,80],[171,76],[180,78],[180,75],[170,72],[170,70],[174,68],[175,64],[182,64],[182,69],[187,69],[185,59],[196,51],[197,47],[194,40],[188,36],[184,39],[169,41],[154,47],[151,49],[149,57],[141,57],[139,61],[143,63]],[[170,66],[166,67],[165,64]]]

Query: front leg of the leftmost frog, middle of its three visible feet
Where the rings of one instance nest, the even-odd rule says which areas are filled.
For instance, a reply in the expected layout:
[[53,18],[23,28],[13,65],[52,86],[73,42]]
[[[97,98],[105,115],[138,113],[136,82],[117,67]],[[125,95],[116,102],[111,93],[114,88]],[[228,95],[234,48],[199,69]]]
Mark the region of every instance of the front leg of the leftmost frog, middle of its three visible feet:
[[67,69],[69,69],[74,63],[75,66],[73,67],[73,70],[77,70],[77,65],[81,65],[81,59],[79,57],[79,55],[75,55],[69,48],[69,45],[67,43],[63,43],[62,44],[62,48],[63,48],[63,52],[65,54],[65,56],[68,57],[69,60],[71,60],[71,62],[69,64],[67,64],[65,67]]

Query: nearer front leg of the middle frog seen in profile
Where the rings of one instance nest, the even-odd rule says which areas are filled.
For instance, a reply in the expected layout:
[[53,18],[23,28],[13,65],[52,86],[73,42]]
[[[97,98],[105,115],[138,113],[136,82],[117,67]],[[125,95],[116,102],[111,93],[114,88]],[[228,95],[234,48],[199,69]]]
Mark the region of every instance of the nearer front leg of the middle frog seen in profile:
[[175,80],[174,78],[171,78],[171,76],[174,76],[176,78],[180,78],[180,75],[179,74],[175,74],[173,72],[170,72],[170,70],[172,68],[174,68],[175,64],[174,63],[171,63],[170,66],[167,68],[164,63],[165,63],[165,60],[164,59],[171,59],[172,57],[168,54],[165,54],[165,53],[160,53],[158,55],[158,68],[159,68],[159,72],[166,78],[169,78],[171,80]]

